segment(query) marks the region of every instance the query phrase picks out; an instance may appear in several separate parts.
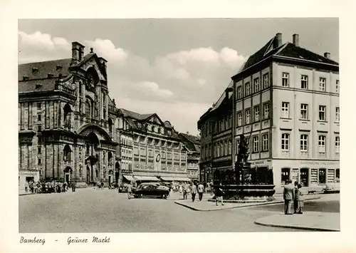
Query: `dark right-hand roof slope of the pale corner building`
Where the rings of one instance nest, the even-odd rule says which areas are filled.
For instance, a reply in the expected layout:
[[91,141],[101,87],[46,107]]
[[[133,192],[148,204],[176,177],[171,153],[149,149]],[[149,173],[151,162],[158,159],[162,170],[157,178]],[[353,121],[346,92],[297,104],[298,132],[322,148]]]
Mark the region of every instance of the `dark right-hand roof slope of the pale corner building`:
[[283,48],[281,52],[276,53],[276,56],[287,56],[308,61],[317,61],[320,63],[339,65],[339,63],[336,61],[325,58],[324,56],[320,56],[317,53],[313,53],[312,51],[301,48],[300,46],[295,46],[293,43],[287,43],[287,46]]

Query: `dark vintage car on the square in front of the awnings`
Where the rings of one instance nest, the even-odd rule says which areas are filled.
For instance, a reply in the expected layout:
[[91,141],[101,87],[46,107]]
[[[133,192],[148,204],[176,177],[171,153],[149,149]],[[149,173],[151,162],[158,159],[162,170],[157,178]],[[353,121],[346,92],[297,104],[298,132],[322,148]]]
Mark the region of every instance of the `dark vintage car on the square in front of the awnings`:
[[157,182],[146,182],[133,189],[132,194],[134,197],[162,197],[163,199],[167,199],[169,188],[159,185]]

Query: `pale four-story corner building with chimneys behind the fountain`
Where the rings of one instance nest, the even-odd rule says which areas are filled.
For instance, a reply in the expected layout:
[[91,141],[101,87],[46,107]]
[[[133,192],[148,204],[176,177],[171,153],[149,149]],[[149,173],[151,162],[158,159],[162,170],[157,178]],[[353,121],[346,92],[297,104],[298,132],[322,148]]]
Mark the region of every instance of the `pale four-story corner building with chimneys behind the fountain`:
[[282,43],[277,33],[232,79],[234,150],[245,135],[251,165],[273,170],[276,187],[340,180],[339,66],[330,53],[301,47],[298,34]]

